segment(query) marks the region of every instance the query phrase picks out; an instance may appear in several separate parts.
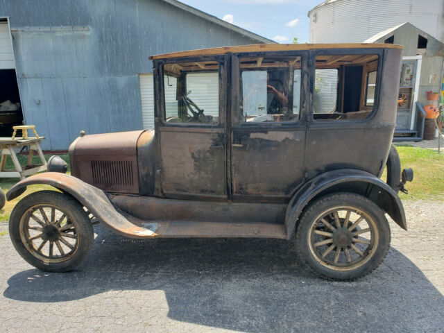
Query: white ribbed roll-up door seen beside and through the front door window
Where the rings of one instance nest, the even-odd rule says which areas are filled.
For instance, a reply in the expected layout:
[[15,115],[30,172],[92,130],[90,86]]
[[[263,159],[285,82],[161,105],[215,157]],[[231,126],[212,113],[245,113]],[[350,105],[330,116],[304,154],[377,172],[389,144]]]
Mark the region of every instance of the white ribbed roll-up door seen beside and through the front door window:
[[[154,83],[153,74],[140,74],[140,96],[144,128],[154,127]],[[165,109],[168,117],[178,116],[176,100],[176,78],[170,77],[165,83]],[[217,73],[187,74],[188,97],[204,110],[207,116],[219,116],[219,75]]]

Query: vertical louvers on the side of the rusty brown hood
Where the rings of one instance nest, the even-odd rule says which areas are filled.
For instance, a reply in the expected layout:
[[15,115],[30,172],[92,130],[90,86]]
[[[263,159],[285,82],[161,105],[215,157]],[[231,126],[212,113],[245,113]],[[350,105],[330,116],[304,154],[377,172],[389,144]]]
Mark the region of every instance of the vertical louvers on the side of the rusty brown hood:
[[133,162],[116,160],[92,160],[92,181],[101,188],[132,187]]

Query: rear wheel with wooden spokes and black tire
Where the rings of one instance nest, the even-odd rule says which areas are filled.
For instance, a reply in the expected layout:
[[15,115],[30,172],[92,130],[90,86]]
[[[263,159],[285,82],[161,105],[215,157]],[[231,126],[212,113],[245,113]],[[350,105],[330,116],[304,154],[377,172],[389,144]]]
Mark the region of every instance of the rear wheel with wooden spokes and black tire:
[[[346,213],[345,218],[338,219],[339,227],[342,223],[341,228],[335,224],[336,218],[334,218],[333,213],[329,213],[336,212],[338,214],[337,212],[340,210],[345,212],[350,210],[349,218],[346,217],[348,214]],[[355,223],[352,223],[352,216],[355,216],[355,214],[364,216],[363,219],[359,219],[365,221],[368,228],[362,228],[362,222],[359,222],[361,225],[358,225],[358,223],[355,228],[352,228],[355,225]],[[323,218],[320,216],[325,216],[325,224],[321,221]],[[327,228],[327,224],[329,224],[327,219],[332,218],[334,218],[330,221],[332,229]],[[356,219],[355,222],[359,219]],[[346,223],[347,225],[345,225]],[[350,225],[350,223],[352,224]],[[349,228],[352,228],[351,231],[348,230]],[[361,239],[361,235],[365,234],[364,229],[370,230],[367,232],[370,240]],[[347,232],[350,232],[351,236],[348,236]],[[354,233],[357,233],[357,235],[354,235]],[[332,236],[320,234],[332,234]],[[316,241],[314,240],[315,237],[322,237],[321,241],[314,243]],[[359,239],[359,243],[354,243],[352,239]],[[361,244],[364,241],[368,242],[368,246],[365,250],[363,248],[359,249],[361,252],[361,255],[359,255],[358,252],[353,250],[352,246],[355,246],[355,248],[357,246],[366,247],[366,245]],[[390,247],[390,241],[390,226],[384,212],[368,198],[352,193],[329,194],[311,203],[302,214],[296,230],[298,256],[316,273],[328,280],[355,280],[367,275],[384,260]],[[326,244],[318,245],[320,243]],[[350,244],[352,244],[351,247]],[[323,257],[327,250],[333,246],[335,247]],[[324,250],[323,247],[327,250]],[[339,252],[339,255],[336,257],[337,252]],[[355,255],[355,259],[352,259],[352,255]],[[341,262],[339,259],[341,259]]]

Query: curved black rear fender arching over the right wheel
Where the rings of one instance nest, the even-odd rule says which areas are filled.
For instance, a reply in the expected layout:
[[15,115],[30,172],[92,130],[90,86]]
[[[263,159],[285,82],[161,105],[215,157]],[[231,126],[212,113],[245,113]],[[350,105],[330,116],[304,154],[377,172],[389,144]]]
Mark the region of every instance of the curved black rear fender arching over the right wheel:
[[352,192],[366,196],[407,230],[404,207],[398,194],[371,173],[357,169],[328,171],[309,180],[291,198],[285,214],[287,239],[293,234],[302,210],[320,196],[334,192]]

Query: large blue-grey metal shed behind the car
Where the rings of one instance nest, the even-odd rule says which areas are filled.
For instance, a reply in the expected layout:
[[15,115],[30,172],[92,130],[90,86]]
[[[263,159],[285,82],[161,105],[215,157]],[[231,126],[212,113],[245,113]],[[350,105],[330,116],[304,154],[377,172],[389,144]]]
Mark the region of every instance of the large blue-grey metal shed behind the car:
[[66,150],[80,130],[152,126],[148,56],[259,43],[273,41],[176,0],[0,0],[0,103]]

